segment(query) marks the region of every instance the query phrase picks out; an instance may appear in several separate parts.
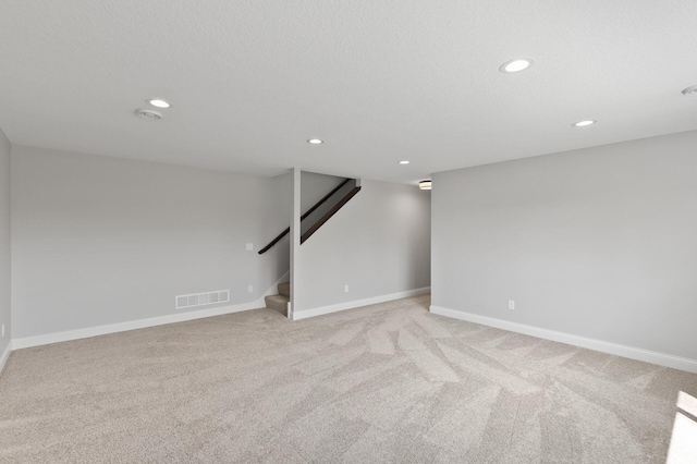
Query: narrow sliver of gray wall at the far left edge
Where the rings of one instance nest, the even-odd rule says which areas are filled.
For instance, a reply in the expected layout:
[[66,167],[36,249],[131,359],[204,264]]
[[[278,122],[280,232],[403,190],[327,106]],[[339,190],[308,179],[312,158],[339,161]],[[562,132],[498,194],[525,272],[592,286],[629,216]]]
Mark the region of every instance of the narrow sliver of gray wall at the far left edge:
[[10,142],[0,130],[0,323],[4,323],[4,338],[0,338],[0,355],[10,344]]

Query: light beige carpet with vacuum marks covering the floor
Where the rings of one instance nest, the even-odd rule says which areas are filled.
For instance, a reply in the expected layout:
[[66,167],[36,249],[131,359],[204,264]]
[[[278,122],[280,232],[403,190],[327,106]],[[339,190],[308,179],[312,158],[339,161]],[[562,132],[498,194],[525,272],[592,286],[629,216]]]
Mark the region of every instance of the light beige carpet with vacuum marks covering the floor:
[[0,462],[665,462],[696,375],[428,305],[259,309],[16,351]]

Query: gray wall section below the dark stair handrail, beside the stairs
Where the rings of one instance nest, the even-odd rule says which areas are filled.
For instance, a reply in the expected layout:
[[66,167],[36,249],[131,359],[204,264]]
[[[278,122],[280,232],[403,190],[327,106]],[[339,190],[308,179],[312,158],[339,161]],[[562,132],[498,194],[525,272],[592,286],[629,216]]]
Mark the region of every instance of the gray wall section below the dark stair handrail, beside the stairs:
[[428,286],[430,194],[363,180],[362,191],[299,246],[299,255],[296,315]]

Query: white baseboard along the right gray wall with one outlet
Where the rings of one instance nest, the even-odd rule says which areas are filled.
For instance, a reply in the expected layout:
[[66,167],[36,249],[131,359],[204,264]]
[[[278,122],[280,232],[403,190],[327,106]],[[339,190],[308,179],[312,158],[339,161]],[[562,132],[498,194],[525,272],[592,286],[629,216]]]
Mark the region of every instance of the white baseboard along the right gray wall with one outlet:
[[511,322],[503,319],[496,319],[492,317],[480,316],[440,306],[431,306],[430,312],[439,316],[452,317],[453,319],[496,327],[497,329],[510,330],[512,332],[524,333],[526,335],[538,337],[540,339],[552,340],[554,342],[566,343],[574,346],[580,346],[602,353],[614,354],[617,356],[628,357],[631,359],[643,361],[645,363],[658,364],[659,366],[672,367],[674,369],[687,370],[688,373],[697,374],[697,359],[673,356],[671,354],[658,353],[617,343],[603,342],[601,340],[588,339],[585,337],[573,335],[571,333],[558,332],[555,330]]

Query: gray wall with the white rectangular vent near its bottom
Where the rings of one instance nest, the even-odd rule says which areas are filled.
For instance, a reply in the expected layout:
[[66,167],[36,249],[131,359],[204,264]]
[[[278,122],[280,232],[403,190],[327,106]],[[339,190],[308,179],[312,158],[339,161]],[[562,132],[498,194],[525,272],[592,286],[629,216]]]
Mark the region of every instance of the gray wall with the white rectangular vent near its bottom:
[[282,180],[19,146],[12,179],[13,338],[249,303],[288,271],[257,254],[288,225]]

